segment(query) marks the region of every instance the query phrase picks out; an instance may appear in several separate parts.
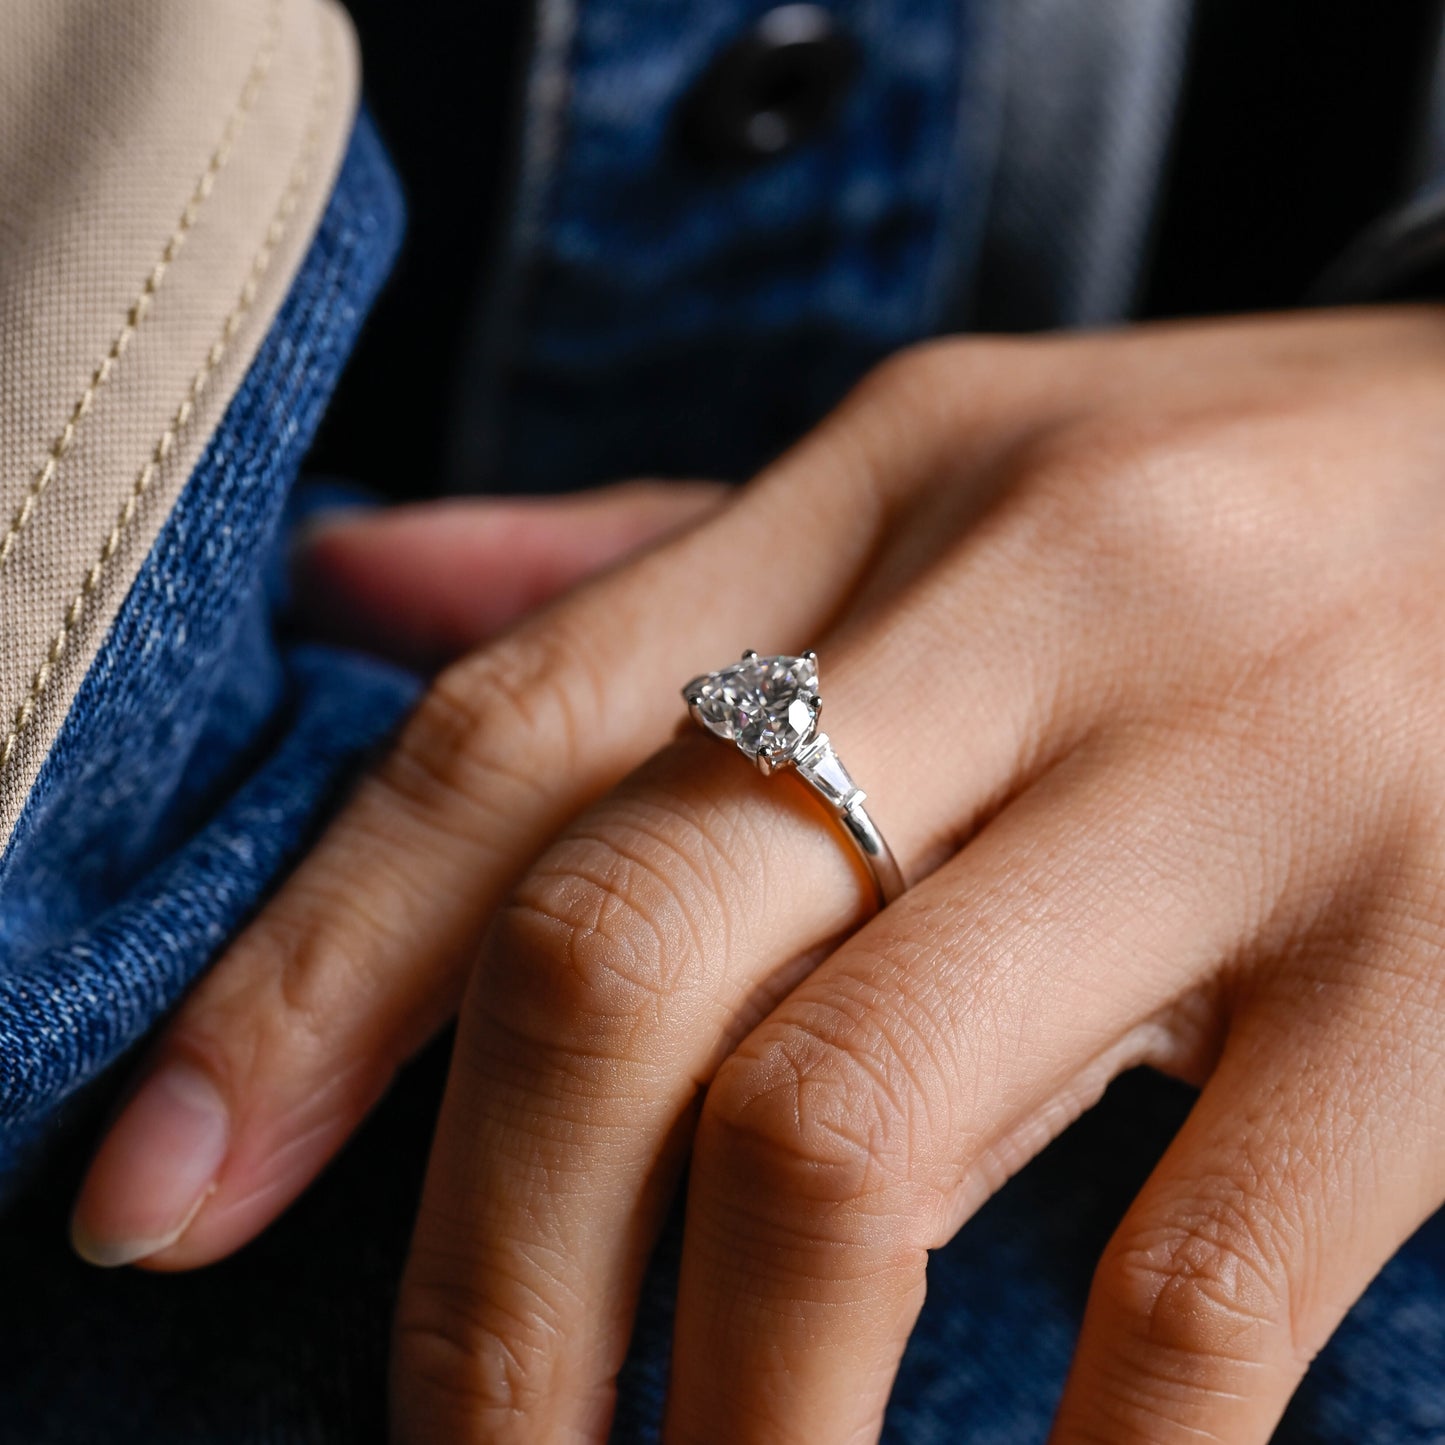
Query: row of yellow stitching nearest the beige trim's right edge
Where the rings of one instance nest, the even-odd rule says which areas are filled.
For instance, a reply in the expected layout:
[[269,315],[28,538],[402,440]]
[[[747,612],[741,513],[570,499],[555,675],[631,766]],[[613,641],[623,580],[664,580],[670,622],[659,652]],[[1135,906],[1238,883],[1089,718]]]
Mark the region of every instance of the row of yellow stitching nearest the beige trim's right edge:
[[85,613],[85,604],[94,595],[95,588],[100,587],[101,578],[105,574],[105,566],[120,551],[120,543],[126,530],[130,527],[136,513],[140,510],[140,503],[150,490],[150,484],[155,481],[156,473],[166,460],[176,435],[191,419],[195,409],[195,399],[205,389],[211,373],[221,361],[227,345],[240,329],[241,319],[246,316],[246,312],[250,311],[257,293],[260,292],[260,283],[266,276],[266,272],[270,269],[270,263],[276,254],[276,247],[286,234],[286,228],[296,211],[296,205],[301,201],[301,192],[305,189],[312,163],[316,158],[316,147],[321,143],[322,118],[325,116],[327,103],[331,97],[331,88],[335,79],[335,46],[328,33],[325,53],[316,77],[316,90],[311,103],[312,116],[302,139],[302,147],[296,158],[296,165],[286,184],[286,189],[282,192],[282,198],[272,217],[270,225],[266,228],[266,236],[262,240],[260,250],[251,260],[250,272],[241,286],[240,296],[221,325],[221,334],[217,341],[212,342],[211,350],[201,363],[201,368],[191,379],[191,386],[186,389],[186,394],[181,399],[181,405],[176,407],[175,416],[172,416],[169,425],[160,436],[156,438],[156,444],[152,448],[150,455],[146,458],[146,464],[136,474],[136,480],[130,486],[126,501],[121,506],[120,513],[116,516],[116,520],[111,523],[110,533],[101,545],[100,556],[97,556],[91,564],[90,571],[85,574],[85,579],[81,582],[79,591],[71,598],[69,607],[65,608],[65,618],[61,623],[59,630],[51,639],[51,644],[45,652],[45,659],[39,668],[36,668],[35,676],[30,679],[30,689],[20,705],[14,709],[10,727],[6,730],[3,743],[0,743],[0,769],[9,766],[10,759],[14,756],[16,740],[35,715],[35,708],[45,695],[45,689],[49,686],[51,675],[55,672],[56,665],[65,655],[65,646],[69,642],[71,633],[75,630]]

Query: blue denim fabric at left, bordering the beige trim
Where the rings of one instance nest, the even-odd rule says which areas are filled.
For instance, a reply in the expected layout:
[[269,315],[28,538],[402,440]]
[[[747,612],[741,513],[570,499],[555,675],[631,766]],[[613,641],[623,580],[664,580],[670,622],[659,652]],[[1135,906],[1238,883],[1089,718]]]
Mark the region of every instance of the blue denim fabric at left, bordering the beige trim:
[[0,1189],[236,932],[415,694],[276,627],[288,493],[399,234],[363,120],[0,858]]

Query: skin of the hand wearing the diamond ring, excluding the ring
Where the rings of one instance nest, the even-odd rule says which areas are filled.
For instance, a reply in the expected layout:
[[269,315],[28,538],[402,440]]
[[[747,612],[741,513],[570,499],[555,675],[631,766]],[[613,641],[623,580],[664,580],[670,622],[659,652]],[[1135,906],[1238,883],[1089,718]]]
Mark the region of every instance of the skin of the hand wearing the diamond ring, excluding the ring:
[[[928,1251],[1150,1064],[1199,1100],[1052,1442],[1263,1445],[1445,1199],[1442,393],[1432,308],[890,361],[439,675],[158,1045],[224,1157],[143,1263],[260,1230],[460,998],[394,1438],[603,1441],[691,1157],[668,1439],[863,1442]],[[744,646],[818,649],[883,913],[796,780],[678,730]],[[175,1233],[156,1117],[88,1253]]]

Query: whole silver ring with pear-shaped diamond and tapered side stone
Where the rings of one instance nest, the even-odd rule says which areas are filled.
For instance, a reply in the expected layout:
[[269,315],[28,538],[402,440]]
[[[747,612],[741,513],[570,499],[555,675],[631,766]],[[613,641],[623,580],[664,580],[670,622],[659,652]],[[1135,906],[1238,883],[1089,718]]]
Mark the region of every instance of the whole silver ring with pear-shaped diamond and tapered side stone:
[[867,793],[848,776],[828,734],[818,731],[816,653],[760,657],[744,652],[741,662],[694,678],[682,695],[694,722],[733,743],[764,777],[786,769],[808,783],[857,848],[880,907],[903,893],[903,871],[863,806]]

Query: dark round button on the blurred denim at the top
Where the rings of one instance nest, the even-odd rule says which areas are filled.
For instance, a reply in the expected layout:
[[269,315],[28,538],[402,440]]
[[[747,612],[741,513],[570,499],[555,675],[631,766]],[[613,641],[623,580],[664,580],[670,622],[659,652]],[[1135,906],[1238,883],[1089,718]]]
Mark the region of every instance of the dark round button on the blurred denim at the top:
[[696,160],[749,166],[816,136],[838,113],[858,46],[821,6],[769,10],[702,72],[681,111]]

